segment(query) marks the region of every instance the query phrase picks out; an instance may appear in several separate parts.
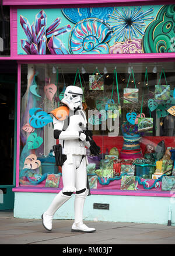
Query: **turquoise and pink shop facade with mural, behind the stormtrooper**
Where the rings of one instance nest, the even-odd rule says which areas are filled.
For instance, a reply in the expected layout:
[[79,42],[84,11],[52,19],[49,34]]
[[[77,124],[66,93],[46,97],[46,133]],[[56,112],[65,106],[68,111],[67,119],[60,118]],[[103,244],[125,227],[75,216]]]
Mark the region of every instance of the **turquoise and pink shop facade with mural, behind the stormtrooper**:
[[[10,57],[17,60],[14,216],[40,219],[62,188],[49,113],[61,106],[65,87],[77,85],[101,147],[99,157],[88,153],[85,220],[167,224],[171,212],[175,223],[173,189],[162,189],[174,175],[173,1],[59,2],[10,7]],[[74,219],[73,208],[74,195],[55,218]]]

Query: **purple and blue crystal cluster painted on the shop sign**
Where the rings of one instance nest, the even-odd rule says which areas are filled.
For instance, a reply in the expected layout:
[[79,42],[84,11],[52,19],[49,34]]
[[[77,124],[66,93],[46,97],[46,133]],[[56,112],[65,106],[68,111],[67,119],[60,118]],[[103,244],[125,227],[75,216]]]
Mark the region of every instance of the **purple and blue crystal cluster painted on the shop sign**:
[[46,28],[47,15],[41,10],[36,15],[35,22],[30,26],[29,21],[20,15],[22,26],[27,39],[21,39],[22,49],[27,54],[69,54],[64,43],[57,36],[71,31],[71,26],[63,26],[57,29],[61,18],[57,18]]

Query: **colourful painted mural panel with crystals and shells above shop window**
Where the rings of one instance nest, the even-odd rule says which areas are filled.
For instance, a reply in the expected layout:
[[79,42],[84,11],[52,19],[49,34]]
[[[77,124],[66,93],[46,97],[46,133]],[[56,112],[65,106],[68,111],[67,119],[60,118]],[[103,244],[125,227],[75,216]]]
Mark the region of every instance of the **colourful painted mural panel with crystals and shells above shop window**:
[[174,51],[175,5],[19,9],[18,54]]

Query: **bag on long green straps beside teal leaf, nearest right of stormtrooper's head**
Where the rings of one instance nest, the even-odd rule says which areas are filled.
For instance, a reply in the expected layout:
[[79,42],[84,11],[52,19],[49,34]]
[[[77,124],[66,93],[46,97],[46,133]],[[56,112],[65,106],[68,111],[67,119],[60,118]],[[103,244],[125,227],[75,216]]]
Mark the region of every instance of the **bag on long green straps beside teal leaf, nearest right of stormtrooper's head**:
[[[117,97],[118,97],[118,103],[114,103],[113,94],[114,94],[114,79],[116,81],[116,87],[117,87]],[[111,94],[111,99],[108,99],[105,110],[111,110],[108,112],[108,118],[116,118],[118,115],[121,116],[121,105],[120,105],[120,96],[118,91],[118,79],[117,79],[117,70],[115,68],[114,70],[114,79],[113,79],[113,90]],[[116,111],[117,110],[117,111]]]

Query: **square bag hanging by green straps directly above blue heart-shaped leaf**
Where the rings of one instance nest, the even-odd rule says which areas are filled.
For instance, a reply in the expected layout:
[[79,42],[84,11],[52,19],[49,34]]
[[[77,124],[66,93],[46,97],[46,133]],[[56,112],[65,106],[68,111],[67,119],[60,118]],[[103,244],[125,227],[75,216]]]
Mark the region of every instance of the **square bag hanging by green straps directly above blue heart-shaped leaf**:
[[[128,84],[129,84],[129,80],[131,78],[131,74],[132,74],[132,77],[134,79],[135,89],[128,88]],[[133,69],[131,70],[131,73],[129,75],[128,84],[127,84],[127,88],[124,88],[124,101],[123,101],[123,103],[124,104],[136,104],[136,103],[138,103],[138,88],[136,88]]]

